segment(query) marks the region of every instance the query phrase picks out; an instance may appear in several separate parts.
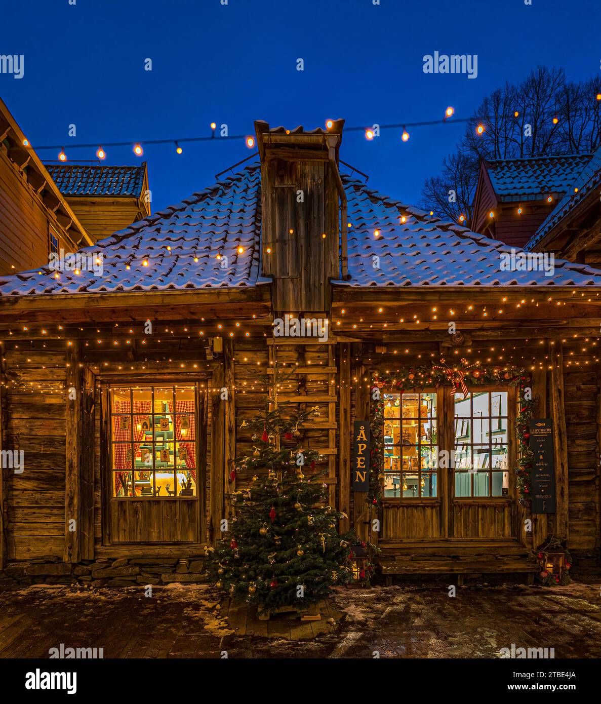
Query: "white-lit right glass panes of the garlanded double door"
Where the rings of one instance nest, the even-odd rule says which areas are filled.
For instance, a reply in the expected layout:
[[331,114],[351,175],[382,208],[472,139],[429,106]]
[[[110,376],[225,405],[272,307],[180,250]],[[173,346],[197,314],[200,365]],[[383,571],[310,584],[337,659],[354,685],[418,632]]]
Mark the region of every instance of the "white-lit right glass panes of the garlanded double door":
[[455,496],[507,496],[507,391],[455,394]]

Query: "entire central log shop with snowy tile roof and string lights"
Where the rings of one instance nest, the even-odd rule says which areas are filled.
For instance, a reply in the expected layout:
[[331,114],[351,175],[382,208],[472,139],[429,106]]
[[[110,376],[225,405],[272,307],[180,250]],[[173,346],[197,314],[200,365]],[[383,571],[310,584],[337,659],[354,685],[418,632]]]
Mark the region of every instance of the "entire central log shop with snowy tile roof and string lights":
[[601,272],[369,189],[343,120],[255,127],[256,163],[84,249],[101,272],[0,277],[4,579],[201,581],[275,400],[315,410],[300,442],[388,579],[531,577],[550,533],[598,566]]

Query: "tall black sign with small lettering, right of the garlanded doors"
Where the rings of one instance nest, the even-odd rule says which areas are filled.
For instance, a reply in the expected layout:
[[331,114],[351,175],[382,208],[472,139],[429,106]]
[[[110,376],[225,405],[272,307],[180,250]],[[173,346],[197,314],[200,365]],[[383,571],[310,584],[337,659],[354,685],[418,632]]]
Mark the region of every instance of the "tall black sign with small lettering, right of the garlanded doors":
[[533,452],[530,474],[532,513],[555,513],[555,460],[553,425],[550,418],[533,418],[529,423],[529,447]]

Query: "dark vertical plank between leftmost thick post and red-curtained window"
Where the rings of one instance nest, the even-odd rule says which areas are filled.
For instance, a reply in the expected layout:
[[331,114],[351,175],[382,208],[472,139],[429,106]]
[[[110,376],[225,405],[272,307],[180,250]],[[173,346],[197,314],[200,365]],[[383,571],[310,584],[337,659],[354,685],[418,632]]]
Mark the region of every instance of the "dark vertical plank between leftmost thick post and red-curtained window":
[[82,508],[80,550],[82,560],[94,559],[94,374],[83,371],[82,388]]

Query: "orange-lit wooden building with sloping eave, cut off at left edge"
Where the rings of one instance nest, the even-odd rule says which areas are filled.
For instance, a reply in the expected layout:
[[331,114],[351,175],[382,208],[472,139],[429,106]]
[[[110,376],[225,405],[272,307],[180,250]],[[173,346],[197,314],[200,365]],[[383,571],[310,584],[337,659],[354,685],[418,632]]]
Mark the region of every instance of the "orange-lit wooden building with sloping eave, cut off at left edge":
[[0,274],[42,266],[51,252],[92,244],[0,100]]

